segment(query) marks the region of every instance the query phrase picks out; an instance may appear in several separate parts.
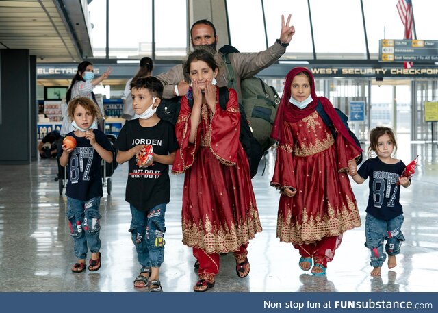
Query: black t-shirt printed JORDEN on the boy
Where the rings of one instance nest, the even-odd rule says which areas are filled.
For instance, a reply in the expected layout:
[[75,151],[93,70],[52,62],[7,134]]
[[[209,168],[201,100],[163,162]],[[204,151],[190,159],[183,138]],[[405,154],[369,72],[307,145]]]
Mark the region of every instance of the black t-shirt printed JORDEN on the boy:
[[[168,155],[178,149],[175,127],[160,120],[153,127],[142,127],[139,119],[127,121],[117,137],[116,148],[128,151],[136,145],[152,145],[153,152]],[[129,160],[129,173],[125,200],[140,211],[149,211],[170,201],[169,166],[154,162],[140,168],[136,156]]]

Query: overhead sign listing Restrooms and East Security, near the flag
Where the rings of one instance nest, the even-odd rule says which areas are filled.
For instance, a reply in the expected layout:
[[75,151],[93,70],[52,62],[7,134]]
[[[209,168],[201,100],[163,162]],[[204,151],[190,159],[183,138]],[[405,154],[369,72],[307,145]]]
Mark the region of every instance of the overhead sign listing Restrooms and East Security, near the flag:
[[438,40],[383,39],[378,59],[381,62],[437,62]]

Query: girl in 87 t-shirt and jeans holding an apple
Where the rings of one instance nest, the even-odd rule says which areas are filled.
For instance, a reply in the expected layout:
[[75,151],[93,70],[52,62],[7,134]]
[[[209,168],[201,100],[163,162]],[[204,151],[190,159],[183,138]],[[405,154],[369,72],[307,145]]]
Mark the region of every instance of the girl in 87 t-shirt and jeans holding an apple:
[[91,251],[88,270],[97,271],[101,268],[101,160],[112,162],[112,145],[103,132],[92,129],[94,120],[101,118],[92,100],[81,97],[70,101],[68,117],[75,130],[67,136],[75,138],[77,145],[74,148],[62,145],[60,164],[68,166],[67,217],[78,258],[71,271],[80,273],[86,269],[88,248]]

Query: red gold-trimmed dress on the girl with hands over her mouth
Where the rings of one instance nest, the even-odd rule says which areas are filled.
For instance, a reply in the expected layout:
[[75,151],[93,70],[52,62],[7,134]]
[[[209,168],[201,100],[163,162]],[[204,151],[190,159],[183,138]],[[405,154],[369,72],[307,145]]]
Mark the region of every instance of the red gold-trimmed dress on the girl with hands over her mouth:
[[216,110],[201,108],[194,144],[190,135],[188,99],[181,99],[175,125],[180,149],[172,173],[185,173],[183,243],[207,253],[237,251],[261,231],[248,159],[239,141],[240,113],[235,90],[229,89],[222,110],[216,90]]

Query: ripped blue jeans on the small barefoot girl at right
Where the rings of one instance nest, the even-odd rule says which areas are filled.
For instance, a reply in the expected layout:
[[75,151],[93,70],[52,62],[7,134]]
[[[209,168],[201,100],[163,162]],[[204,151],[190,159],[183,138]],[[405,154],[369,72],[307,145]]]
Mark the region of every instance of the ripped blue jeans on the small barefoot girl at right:
[[404,241],[401,227],[404,221],[403,214],[388,221],[375,218],[367,214],[365,221],[365,247],[371,250],[372,267],[381,267],[386,260],[383,253],[383,240],[386,240],[385,251],[388,255],[400,253],[400,247]]

